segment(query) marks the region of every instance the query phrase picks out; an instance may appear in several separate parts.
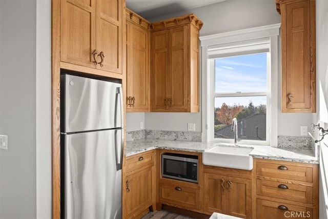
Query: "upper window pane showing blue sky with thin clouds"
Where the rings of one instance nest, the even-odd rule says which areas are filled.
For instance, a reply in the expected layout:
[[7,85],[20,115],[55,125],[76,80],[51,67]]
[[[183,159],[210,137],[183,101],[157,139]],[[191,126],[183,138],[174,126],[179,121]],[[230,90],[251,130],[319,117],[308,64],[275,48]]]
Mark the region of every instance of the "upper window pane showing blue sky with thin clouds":
[[267,53],[215,59],[215,93],[266,91]]

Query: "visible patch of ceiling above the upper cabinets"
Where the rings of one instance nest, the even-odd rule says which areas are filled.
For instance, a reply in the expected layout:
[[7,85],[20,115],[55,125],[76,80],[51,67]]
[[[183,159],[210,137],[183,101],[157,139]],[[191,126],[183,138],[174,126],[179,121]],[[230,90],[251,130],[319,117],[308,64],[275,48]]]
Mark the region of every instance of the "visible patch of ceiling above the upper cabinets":
[[146,19],[223,1],[226,0],[126,0],[127,8]]

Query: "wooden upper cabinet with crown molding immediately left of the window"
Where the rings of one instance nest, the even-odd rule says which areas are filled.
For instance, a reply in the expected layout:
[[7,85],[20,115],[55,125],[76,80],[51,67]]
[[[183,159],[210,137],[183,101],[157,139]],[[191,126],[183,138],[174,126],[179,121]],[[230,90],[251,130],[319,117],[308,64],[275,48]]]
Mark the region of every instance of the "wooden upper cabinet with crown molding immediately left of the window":
[[199,112],[201,26],[194,14],[151,25],[151,111]]

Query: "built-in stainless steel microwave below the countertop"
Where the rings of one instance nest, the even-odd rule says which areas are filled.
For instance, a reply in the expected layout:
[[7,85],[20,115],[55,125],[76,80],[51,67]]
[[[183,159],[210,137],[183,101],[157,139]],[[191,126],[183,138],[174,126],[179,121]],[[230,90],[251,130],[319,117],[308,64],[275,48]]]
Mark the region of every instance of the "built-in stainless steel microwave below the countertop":
[[162,177],[198,183],[198,156],[178,153],[163,153]]

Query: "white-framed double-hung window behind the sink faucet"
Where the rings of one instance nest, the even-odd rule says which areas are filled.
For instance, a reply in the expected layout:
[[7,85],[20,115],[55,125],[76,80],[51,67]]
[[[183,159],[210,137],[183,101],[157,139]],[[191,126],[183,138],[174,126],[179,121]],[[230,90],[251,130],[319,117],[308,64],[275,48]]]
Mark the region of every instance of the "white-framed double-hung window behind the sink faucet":
[[200,37],[203,140],[233,143],[236,117],[240,144],[277,144],[279,27]]

